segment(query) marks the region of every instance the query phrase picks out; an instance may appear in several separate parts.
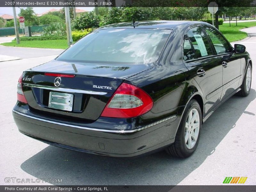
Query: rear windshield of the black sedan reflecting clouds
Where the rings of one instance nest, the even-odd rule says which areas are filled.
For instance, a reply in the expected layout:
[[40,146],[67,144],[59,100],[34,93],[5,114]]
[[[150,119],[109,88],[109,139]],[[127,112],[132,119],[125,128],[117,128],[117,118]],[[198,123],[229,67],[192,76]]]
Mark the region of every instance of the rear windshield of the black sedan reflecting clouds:
[[147,64],[155,62],[171,30],[106,29],[94,31],[63,52],[69,62]]

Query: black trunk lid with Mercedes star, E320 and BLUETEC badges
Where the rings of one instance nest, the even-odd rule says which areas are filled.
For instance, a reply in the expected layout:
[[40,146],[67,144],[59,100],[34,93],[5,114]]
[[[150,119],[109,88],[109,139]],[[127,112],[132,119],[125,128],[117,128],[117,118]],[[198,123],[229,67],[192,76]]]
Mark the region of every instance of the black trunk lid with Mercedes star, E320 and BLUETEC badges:
[[[66,121],[94,121],[126,78],[151,67],[52,60],[25,71],[22,88],[34,113]],[[45,73],[60,75],[48,76]],[[61,76],[63,74],[74,76]]]

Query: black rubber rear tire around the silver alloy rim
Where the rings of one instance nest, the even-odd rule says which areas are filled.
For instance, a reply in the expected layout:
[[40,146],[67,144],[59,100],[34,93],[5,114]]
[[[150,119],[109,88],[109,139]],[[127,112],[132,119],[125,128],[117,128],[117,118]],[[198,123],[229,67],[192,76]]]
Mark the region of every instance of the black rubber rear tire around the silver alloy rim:
[[[198,137],[197,137],[197,140],[196,140],[196,143],[195,143],[194,147],[189,149],[186,145],[186,142],[185,142],[185,129],[186,129],[185,124],[186,124],[186,121],[188,120],[189,112],[194,108],[198,111],[198,114],[199,114],[199,119],[200,119],[200,121],[199,121],[199,133],[198,133]],[[202,128],[201,108],[200,108],[200,106],[199,106],[199,104],[196,100],[190,100],[186,109],[185,109],[183,117],[181,119],[180,126],[178,128],[177,133],[176,133],[175,141],[171,146],[166,148],[166,152],[169,155],[180,157],[180,158],[186,158],[186,157],[191,156],[194,153],[194,151],[196,150],[196,147],[198,145],[201,128]]]

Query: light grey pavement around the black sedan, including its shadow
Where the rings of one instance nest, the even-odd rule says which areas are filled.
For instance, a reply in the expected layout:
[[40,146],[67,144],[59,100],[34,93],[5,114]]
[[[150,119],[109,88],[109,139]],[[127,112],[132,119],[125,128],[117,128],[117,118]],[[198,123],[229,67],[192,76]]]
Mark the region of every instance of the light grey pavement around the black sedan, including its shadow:
[[[246,30],[252,37],[241,44],[256,62],[256,28]],[[62,179],[57,183],[62,185],[222,185],[225,177],[248,177],[246,185],[256,184],[255,66],[249,96],[233,96],[214,112],[203,124],[193,156],[178,159],[163,151],[124,159],[57,148],[19,133],[11,113],[18,78],[23,70],[53,59],[57,52],[0,47],[2,51],[25,56],[22,60],[0,62],[0,185],[30,184],[6,183],[6,177]]]

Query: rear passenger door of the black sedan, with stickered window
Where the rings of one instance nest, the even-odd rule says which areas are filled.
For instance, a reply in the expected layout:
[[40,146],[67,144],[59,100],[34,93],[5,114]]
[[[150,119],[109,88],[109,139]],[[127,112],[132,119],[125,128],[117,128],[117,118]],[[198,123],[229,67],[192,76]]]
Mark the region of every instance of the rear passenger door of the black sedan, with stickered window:
[[220,103],[222,92],[221,58],[214,55],[201,26],[188,30],[184,39],[183,59],[204,94],[205,114]]

